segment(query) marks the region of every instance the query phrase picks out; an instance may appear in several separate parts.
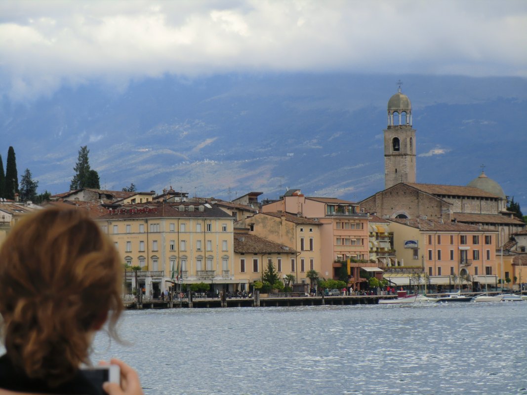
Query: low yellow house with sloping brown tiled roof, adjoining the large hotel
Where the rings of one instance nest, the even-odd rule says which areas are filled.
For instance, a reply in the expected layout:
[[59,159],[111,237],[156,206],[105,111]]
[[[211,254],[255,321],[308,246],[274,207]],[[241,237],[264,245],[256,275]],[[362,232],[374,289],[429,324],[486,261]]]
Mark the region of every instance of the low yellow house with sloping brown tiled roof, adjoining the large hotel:
[[296,250],[251,234],[248,229],[235,230],[234,250],[238,280],[235,291],[252,291],[250,284],[262,281],[269,263],[274,265],[281,279],[287,274],[297,274]]

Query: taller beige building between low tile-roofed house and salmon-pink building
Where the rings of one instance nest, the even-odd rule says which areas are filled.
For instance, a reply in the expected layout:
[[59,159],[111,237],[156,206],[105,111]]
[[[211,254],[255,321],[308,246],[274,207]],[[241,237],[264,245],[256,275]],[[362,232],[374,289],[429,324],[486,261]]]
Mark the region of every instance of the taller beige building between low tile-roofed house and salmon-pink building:
[[[296,251],[288,262],[276,262],[280,273],[295,275],[296,283],[309,283],[310,280],[306,276],[309,270],[320,273],[321,223],[319,221],[284,212],[267,212],[238,221],[235,226],[247,229],[248,234],[257,235]],[[286,271],[286,268],[291,270]]]

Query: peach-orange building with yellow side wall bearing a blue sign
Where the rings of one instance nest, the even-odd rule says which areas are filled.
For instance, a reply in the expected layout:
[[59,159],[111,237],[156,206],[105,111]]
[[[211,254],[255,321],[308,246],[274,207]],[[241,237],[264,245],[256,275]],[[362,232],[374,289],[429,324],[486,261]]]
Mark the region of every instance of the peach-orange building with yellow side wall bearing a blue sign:
[[[443,289],[454,282],[472,284],[476,289],[494,286],[502,278],[496,259],[497,232],[479,226],[437,220],[394,219],[397,265],[386,268],[384,278],[396,285],[408,285],[421,275],[432,287]],[[426,280],[425,280],[426,279]]]

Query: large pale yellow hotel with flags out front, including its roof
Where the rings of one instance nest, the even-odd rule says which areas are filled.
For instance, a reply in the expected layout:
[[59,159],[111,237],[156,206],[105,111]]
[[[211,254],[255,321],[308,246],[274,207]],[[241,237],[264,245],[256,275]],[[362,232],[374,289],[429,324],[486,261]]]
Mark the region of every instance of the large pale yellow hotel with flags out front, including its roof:
[[[153,297],[172,285],[210,283],[233,290],[233,218],[210,203],[123,205],[96,219],[123,262],[140,266],[138,287]],[[135,287],[128,269],[126,282]]]

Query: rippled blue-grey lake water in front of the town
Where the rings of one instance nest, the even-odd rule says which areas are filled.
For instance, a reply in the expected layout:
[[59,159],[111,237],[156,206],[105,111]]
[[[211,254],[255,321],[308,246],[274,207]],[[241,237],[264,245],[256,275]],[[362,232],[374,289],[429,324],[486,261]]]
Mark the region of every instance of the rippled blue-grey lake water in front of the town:
[[527,394],[527,302],[126,311],[147,394]]

